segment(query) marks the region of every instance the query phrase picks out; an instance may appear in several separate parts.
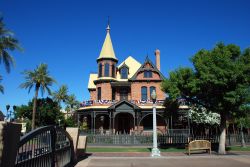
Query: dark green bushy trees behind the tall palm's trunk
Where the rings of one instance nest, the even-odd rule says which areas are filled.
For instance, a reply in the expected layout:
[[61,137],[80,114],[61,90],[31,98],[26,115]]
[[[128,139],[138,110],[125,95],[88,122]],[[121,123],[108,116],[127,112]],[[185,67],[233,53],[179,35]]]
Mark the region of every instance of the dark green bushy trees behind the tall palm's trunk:
[[[33,99],[34,101],[34,99]],[[37,126],[56,125],[58,120],[61,120],[61,124],[65,123],[64,115],[60,111],[58,103],[51,98],[38,98],[37,99],[37,112],[35,124]],[[27,105],[21,105],[16,108],[15,117],[25,118],[25,120],[32,120],[32,108],[33,102],[29,102]]]

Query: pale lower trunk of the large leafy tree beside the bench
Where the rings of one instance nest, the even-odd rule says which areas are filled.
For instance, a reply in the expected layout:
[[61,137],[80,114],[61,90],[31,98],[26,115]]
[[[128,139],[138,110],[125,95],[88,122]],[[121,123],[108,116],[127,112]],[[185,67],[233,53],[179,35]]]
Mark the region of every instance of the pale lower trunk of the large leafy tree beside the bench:
[[226,115],[224,113],[220,114],[221,123],[220,123],[220,141],[219,141],[219,149],[218,154],[226,154]]

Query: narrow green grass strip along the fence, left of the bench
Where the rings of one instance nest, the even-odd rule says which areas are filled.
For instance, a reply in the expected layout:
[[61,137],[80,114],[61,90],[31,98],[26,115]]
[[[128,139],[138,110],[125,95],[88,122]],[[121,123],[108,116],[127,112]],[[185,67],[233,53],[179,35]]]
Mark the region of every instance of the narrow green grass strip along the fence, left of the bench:
[[[167,148],[160,149],[161,152],[184,152],[185,149],[177,149],[177,148]],[[101,148],[101,147],[91,147],[87,148],[87,152],[151,152],[151,148]]]

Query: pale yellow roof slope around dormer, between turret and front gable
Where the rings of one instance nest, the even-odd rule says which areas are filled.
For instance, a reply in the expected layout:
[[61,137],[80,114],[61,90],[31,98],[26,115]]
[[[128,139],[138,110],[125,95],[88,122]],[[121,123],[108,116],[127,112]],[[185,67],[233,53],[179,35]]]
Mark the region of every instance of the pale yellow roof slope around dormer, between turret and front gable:
[[[124,64],[129,68],[128,79],[131,78],[135,72],[140,68],[141,63],[135,60],[132,56],[129,56],[126,60],[120,63],[118,69],[120,69]],[[118,81],[127,81],[128,79],[121,79],[120,72],[117,73],[116,76]]]

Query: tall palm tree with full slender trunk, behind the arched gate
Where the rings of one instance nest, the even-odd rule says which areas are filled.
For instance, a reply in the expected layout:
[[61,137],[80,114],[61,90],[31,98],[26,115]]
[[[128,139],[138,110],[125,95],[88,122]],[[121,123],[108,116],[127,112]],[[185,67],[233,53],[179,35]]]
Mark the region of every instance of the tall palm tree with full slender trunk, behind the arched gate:
[[28,89],[28,92],[35,87],[35,96],[33,100],[33,112],[32,112],[32,130],[35,129],[35,114],[36,104],[39,89],[42,95],[45,91],[51,94],[49,86],[56,82],[48,72],[48,66],[46,64],[40,64],[34,71],[24,71],[25,82],[20,85],[21,88]]

